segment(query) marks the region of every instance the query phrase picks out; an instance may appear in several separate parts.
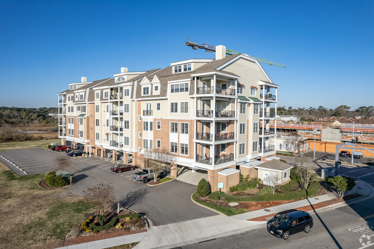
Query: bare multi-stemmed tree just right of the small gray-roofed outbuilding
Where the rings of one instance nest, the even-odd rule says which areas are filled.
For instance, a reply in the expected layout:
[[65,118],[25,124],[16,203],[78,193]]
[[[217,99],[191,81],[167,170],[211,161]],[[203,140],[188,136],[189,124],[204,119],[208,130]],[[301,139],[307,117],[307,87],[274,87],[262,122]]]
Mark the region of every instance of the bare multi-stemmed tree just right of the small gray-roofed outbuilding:
[[317,180],[316,165],[312,157],[304,154],[300,157],[294,157],[292,163],[294,164],[295,173],[300,176],[303,189],[307,189],[309,184]]

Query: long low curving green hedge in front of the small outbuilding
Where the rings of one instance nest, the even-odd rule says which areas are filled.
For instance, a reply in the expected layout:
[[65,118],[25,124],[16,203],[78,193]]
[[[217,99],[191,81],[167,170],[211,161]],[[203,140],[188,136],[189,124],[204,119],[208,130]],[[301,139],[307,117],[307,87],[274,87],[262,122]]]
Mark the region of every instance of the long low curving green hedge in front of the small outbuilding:
[[321,185],[319,182],[312,182],[306,190],[291,191],[277,194],[255,194],[253,196],[225,196],[225,202],[266,202],[278,200],[299,200],[315,196]]

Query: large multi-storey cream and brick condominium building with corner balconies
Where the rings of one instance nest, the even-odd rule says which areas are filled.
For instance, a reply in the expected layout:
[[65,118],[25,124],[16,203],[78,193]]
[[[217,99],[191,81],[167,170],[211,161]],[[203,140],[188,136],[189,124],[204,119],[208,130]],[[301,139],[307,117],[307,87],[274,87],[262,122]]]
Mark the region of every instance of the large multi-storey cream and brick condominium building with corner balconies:
[[144,149],[168,148],[175,164],[207,171],[217,190],[223,169],[275,156],[270,122],[279,87],[256,59],[225,51],[217,46],[215,59],[187,59],[164,69],[121,68],[111,79],[82,77],[58,93],[59,138],[134,164]]

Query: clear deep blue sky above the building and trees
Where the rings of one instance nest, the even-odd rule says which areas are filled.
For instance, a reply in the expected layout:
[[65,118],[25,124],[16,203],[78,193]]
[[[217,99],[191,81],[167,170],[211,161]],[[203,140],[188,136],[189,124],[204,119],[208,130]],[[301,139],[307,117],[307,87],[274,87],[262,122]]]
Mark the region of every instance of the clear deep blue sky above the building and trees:
[[8,1],[0,3],[0,106],[57,107],[69,83],[214,53],[262,64],[278,106],[374,105],[374,1]]

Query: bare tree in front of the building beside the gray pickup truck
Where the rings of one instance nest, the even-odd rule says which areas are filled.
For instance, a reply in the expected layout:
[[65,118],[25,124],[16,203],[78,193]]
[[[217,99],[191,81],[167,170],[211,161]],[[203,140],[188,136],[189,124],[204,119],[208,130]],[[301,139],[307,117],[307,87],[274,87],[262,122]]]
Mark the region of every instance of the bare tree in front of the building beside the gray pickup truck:
[[170,167],[171,162],[177,158],[170,153],[169,148],[144,149],[142,156],[141,163],[153,172],[155,182],[160,171]]

